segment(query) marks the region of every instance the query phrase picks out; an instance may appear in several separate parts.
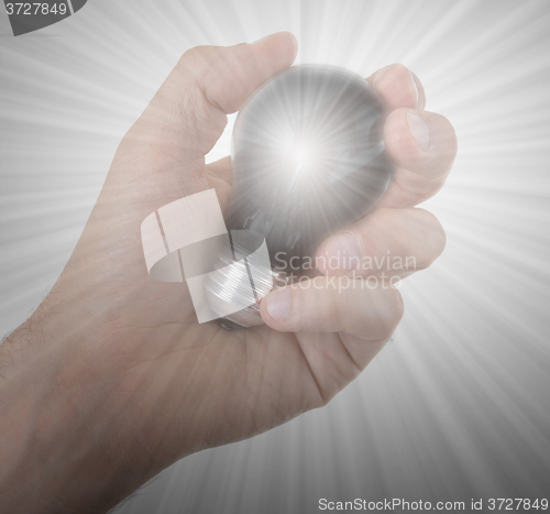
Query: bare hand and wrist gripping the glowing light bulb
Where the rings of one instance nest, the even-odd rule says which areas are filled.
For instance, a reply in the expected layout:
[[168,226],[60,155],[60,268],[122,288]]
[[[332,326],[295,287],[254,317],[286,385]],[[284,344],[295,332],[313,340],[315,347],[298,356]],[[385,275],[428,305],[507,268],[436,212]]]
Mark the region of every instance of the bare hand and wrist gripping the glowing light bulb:
[[[146,273],[143,219],[212,187],[227,208],[230,160],[205,165],[205,155],[227,114],[296,51],[295,39],[278,33],[187,52],[122,140],[66,269],[1,347],[0,496],[11,512],[107,510],[186,455],[324,405],[391,337],[403,315],[399,293],[387,284],[338,292],[326,276],[352,271],[321,270],[316,287],[271,293],[262,302],[265,325],[233,332],[197,324],[185,283]],[[389,251],[424,269],[442,251],[444,233],[411,207],[443,184],[454,132],[422,110],[422,86],[405,67],[367,80],[393,109],[384,134],[398,169],[378,208],[319,254],[332,244],[363,261]],[[383,271],[354,273],[366,280]]]

